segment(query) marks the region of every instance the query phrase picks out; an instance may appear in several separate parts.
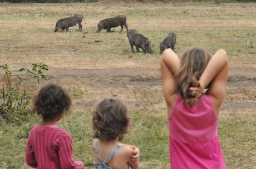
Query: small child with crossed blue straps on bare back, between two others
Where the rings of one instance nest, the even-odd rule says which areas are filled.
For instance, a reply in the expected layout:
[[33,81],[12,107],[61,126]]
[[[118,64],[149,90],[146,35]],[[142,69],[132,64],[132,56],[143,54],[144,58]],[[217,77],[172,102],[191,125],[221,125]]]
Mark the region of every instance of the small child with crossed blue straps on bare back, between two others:
[[126,105],[119,99],[106,98],[93,110],[93,160],[96,169],[137,169],[139,148],[121,144],[129,126]]

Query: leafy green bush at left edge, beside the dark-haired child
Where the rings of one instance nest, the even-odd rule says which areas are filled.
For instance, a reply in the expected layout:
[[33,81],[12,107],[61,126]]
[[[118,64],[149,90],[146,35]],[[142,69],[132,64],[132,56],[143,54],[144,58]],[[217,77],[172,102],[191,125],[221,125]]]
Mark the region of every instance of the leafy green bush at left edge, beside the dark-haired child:
[[[13,76],[9,65],[0,65],[4,70],[3,84],[0,88],[0,116],[7,122],[20,122],[29,120],[31,112],[29,111],[29,104],[32,96],[28,94],[28,81],[32,79],[47,80],[44,70],[48,70],[46,64],[32,64],[32,70],[28,68],[21,68],[19,71],[26,70],[26,79],[20,76]],[[30,77],[30,78],[29,78]]]

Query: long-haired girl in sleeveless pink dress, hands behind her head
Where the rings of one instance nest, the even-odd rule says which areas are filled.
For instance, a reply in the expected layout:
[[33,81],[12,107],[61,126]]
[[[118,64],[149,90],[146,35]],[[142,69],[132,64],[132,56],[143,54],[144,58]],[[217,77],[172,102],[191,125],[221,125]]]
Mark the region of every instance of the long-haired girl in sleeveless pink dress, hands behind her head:
[[[218,136],[220,106],[228,77],[228,55],[212,57],[193,48],[179,58],[166,49],[161,59],[168,110],[172,169],[225,169]],[[205,91],[207,89],[206,93]]]

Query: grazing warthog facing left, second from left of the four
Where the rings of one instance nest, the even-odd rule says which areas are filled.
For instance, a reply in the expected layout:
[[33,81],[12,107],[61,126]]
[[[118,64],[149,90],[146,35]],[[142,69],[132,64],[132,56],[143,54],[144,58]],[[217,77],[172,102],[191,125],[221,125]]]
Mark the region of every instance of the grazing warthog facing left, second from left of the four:
[[114,18],[106,18],[98,23],[97,33],[99,33],[102,29],[107,29],[107,32],[111,32],[110,28],[115,28],[121,26],[121,31],[124,29],[128,29],[126,16],[116,16]]

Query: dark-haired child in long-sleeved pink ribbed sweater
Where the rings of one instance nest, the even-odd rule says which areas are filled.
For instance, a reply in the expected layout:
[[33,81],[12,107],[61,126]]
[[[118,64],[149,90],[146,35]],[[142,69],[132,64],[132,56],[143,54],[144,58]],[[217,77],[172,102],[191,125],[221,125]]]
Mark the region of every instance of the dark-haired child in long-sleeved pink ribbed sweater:
[[55,84],[44,86],[36,96],[33,112],[42,116],[40,124],[29,132],[26,162],[37,169],[83,169],[73,158],[72,139],[56,123],[70,110],[71,99]]

